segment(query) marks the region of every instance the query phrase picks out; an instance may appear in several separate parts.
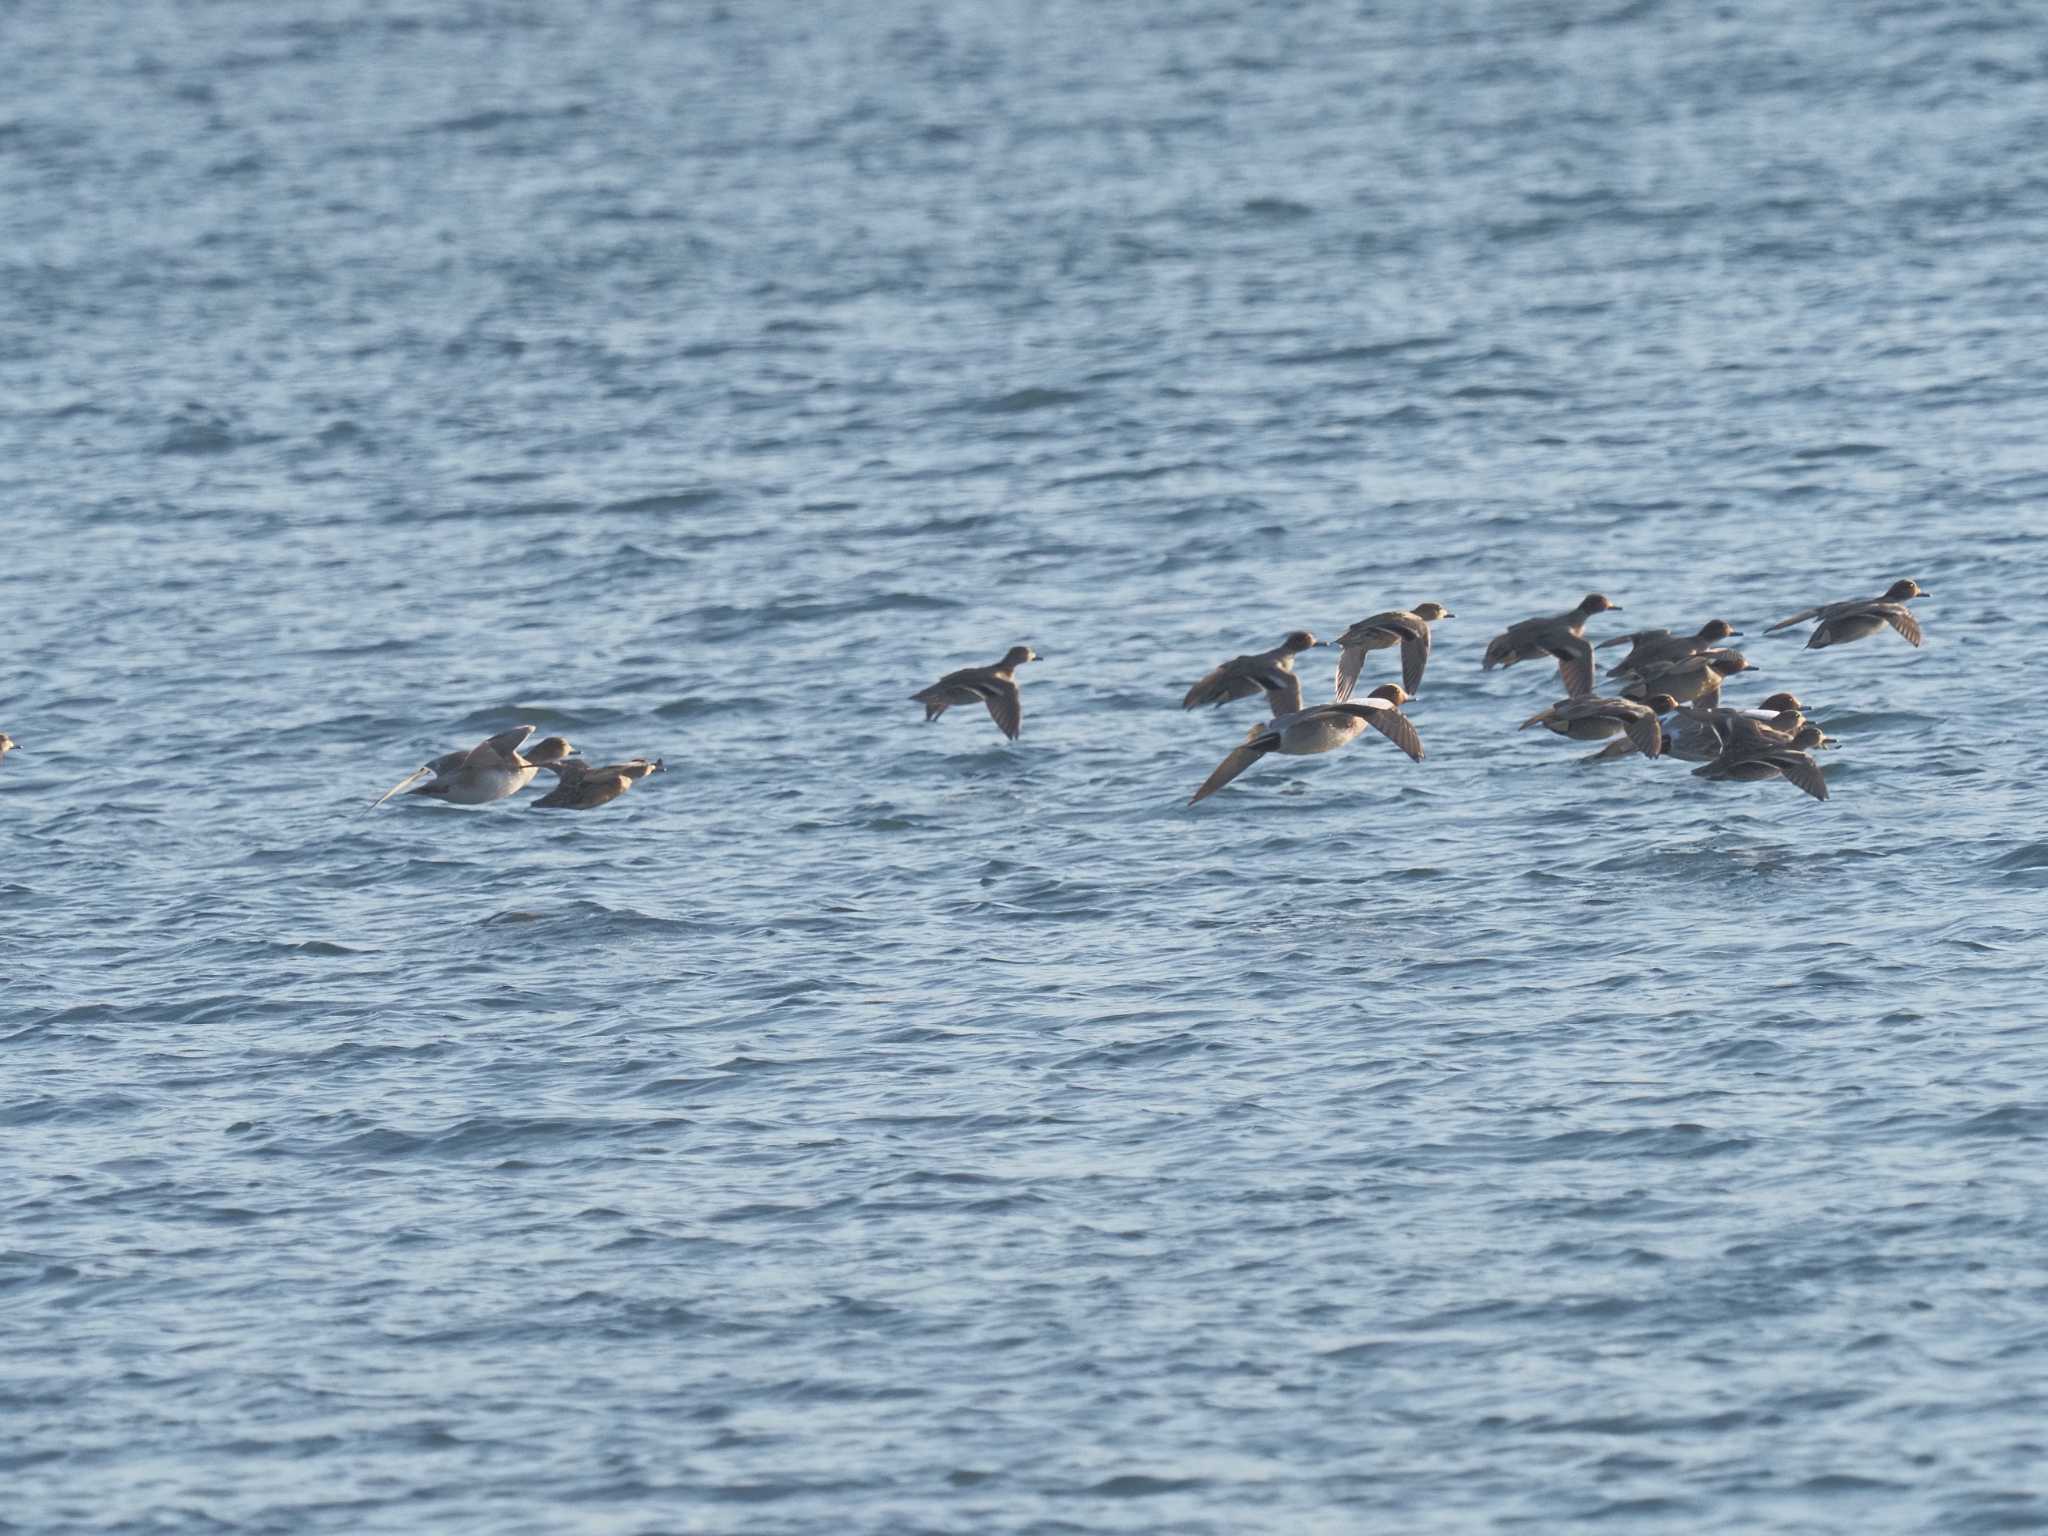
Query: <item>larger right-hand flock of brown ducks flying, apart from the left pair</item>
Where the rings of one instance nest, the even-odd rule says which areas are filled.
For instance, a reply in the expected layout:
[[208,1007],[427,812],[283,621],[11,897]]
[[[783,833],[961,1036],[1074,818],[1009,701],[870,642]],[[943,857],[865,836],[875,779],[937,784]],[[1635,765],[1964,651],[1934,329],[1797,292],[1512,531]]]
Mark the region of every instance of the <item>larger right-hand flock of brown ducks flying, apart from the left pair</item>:
[[[1790,618],[1780,618],[1763,633],[1819,621],[1806,641],[1808,651],[1845,645],[1886,627],[1919,645],[1919,621],[1907,602],[1923,596],[1927,592],[1915,582],[1901,580],[1874,598],[1849,598],[1847,602],[1804,608]],[[1739,782],[1784,778],[1817,801],[1827,799],[1827,778],[1812,752],[1831,748],[1835,741],[1806,719],[1806,707],[1794,694],[1776,692],[1757,709],[1722,707],[1722,682],[1757,670],[1741,651],[1720,645],[1741,631],[1722,618],[1710,618],[1692,635],[1673,635],[1669,629],[1638,629],[1604,639],[1595,647],[1593,641],[1585,639],[1585,625],[1602,612],[1620,612],[1620,604],[1593,592],[1581,598],[1571,612],[1524,618],[1495,635],[1487,645],[1483,666],[1489,672],[1540,655],[1556,662],[1567,696],[1522,721],[1524,731],[1542,725],[1573,741],[1606,741],[1608,745],[1591,754],[1587,762],[1634,754],[1679,758],[1700,764],[1694,768],[1700,778]],[[1292,631],[1270,651],[1235,655],[1204,674],[1188,688],[1182,709],[1219,707],[1264,694],[1272,719],[1253,725],[1237,750],[1202,780],[1188,803],[1206,801],[1268,754],[1305,758],[1335,752],[1358,739],[1368,725],[1419,762],[1421,735],[1417,735],[1415,723],[1401,713],[1401,707],[1421,692],[1421,674],[1430,664],[1430,625],[1454,616],[1440,602],[1419,602],[1413,610],[1360,618],[1335,641],[1335,698],[1327,705],[1303,707],[1294,657],[1329,643],[1305,629]],[[1593,651],[1610,645],[1628,645],[1628,653],[1608,668],[1608,676],[1620,680],[1614,694],[1597,694],[1593,690]],[[1352,692],[1366,666],[1366,655],[1395,647],[1401,651],[1401,682],[1384,682],[1364,698],[1354,698]],[[1016,670],[1036,659],[1038,653],[1028,645],[1012,645],[1001,662],[948,672],[930,688],[913,692],[911,700],[924,705],[926,721],[936,721],[954,705],[979,700],[987,707],[997,729],[1016,741],[1024,723]]]

